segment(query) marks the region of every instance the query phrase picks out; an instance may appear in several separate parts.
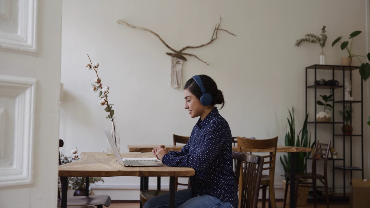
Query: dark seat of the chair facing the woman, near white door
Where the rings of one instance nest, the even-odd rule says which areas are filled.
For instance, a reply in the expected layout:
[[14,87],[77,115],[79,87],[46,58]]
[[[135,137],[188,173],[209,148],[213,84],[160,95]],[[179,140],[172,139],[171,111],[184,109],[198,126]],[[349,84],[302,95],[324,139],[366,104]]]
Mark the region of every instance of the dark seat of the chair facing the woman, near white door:
[[[109,207],[111,205],[111,197],[108,195],[96,195],[96,196],[82,196],[82,197],[68,197],[68,205],[104,205]],[[58,206],[61,205],[61,200],[58,199]]]

